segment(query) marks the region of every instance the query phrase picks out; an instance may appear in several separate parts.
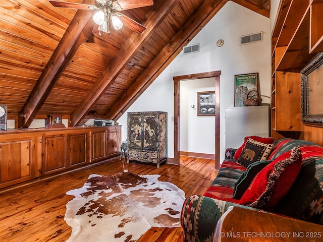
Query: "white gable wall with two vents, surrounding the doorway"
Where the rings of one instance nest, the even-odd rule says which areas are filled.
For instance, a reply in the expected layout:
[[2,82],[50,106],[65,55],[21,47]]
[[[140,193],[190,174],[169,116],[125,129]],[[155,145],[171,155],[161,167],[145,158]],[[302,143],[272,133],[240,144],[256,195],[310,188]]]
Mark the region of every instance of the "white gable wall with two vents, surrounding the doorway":
[[[241,35],[263,31],[263,41],[240,45]],[[225,44],[217,47],[218,39]],[[228,2],[192,39],[200,43],[200,51],[183,55],[181,52],[127,111],[168,112],[168,157],[174,157],[174,76],[221,71],[220,76],[220,162],[225,151],[225,107],[234,106],[234,75],[259,73],[263,103],[271,95],[271,32],[270,20],[233,2]],[[122,139],[127,139],[127,112],[118,123]],[[211,122],[210,122],[211,123]],[[209,127],[212,126],[209,124]],[[200,132],[196,125],[191,132]],[[182,141],[181,141],[182,142]],[[211,153],[212,151],[205,151]]]

